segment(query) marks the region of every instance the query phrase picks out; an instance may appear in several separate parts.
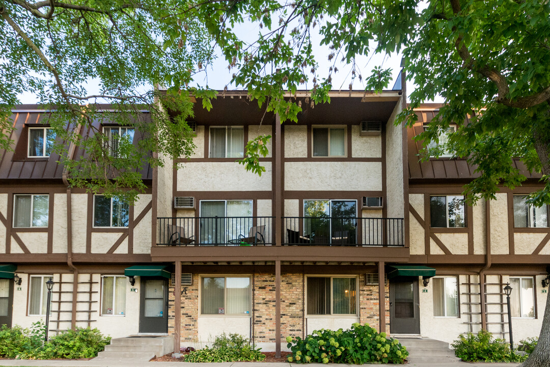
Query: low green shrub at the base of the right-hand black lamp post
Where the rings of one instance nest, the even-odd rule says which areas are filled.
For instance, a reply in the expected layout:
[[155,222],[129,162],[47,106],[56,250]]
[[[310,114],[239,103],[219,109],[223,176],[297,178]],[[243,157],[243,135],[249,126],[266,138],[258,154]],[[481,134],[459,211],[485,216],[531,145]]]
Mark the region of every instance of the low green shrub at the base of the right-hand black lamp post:
[[466,362],[522,362],[525,355],[510,352],[510,346],[503,339],[494,339],[490,332],[481,330],[477,335],[467,333],[460,335],[452,344],[456,357]]

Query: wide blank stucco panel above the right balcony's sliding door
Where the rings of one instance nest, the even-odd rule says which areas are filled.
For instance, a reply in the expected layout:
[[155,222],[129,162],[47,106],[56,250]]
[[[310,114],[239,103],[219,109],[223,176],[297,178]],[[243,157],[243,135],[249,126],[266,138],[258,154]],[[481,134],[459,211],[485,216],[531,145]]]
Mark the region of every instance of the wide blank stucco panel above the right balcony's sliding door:
[[382,190],[380,162],[285,162],[284,169],[285,190]]

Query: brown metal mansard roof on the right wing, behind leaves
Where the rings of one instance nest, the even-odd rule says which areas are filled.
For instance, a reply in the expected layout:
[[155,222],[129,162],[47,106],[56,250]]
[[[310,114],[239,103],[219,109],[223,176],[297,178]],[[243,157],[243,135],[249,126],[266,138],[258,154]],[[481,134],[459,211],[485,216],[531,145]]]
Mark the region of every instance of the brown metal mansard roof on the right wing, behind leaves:
[[[470,165],[465,159],[430,158],[427,161],[420,161],[419,153],[423,147],[423,143],[422,141],[415,141],[413,138],[423,132],[423,125],[429,123],[436,116],[441,106],[439,103],[427,103],[415,109],[418,120],[413,127],[408,129],[409,179],[467,181],[479,177],[480,174],[474,172],[476,167]],[[514,166],[519,169],[519,172],[528,179],[538,179],[541,177],[541,174],[528,171],[520,160],[515,159],[513,162]]]

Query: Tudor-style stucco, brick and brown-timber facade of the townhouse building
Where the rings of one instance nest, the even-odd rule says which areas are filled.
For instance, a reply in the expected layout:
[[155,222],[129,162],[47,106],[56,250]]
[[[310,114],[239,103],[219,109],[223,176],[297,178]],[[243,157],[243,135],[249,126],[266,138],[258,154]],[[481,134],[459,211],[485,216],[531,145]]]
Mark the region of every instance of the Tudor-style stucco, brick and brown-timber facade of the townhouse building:
[[[537,177],[464,207],[474,169],[450,157],[419,163],[412,137],[437,106],[396,127],[399,84],[334,91],[315,108],[298,94],[298,123],[243,92],[218,96],[210,112],[196,103],[195,154],[144,168],[150,189],[129,207],[68,188],[47,151],[46,111],[21,106],[15,151],[0,162],[0,265],[22,281],[0,279],[0,322],[43,317],[52,276],[52,332],[168,333],[175,348],[238,332],[264,350],[353,322],[444,341],[480,327],[507,337],[510,282],[524,289],[513,293],[514,337],[538,335],[550,231],[520,196]],[[259,134],[272,136],[261,177],[235,163]]]

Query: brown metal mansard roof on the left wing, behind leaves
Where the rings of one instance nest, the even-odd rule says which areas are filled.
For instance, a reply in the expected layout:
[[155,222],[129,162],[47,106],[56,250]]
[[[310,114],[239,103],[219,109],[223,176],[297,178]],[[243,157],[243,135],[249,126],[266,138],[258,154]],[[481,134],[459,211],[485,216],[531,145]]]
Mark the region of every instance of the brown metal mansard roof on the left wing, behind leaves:
[[[45,118],[50,113],[52,112],[39,109],[37,105],[19,105],[13,109],[10,120],[13,122],[14,130],[9,138],[14,141],[14,150],[0,150],[0,180],[62,179],[63,165],[58,163],[59,155],[52,153],[50,157],[45,158],[27,157],[28,135],[25,127],[45,123]],[[100,124],[99,121],[94,122],[97,128],[101,127]],[[136,132],[135,140],[139,139],[137,135]],[[83,154],[83,151],[76,150],[75,157],[79,154]],[[141,174],[145,180],[152,179],[152,167],[150,165],[142,167]]]

